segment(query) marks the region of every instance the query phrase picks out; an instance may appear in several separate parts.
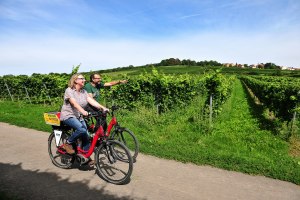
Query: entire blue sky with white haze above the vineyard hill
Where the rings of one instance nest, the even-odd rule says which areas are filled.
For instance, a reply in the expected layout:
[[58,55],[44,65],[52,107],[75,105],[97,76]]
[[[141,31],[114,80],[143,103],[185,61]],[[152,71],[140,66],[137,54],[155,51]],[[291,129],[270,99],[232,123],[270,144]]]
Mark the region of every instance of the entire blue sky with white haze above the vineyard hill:
[[300,1],[0,0],[0,76],[167,58],[300,67]]

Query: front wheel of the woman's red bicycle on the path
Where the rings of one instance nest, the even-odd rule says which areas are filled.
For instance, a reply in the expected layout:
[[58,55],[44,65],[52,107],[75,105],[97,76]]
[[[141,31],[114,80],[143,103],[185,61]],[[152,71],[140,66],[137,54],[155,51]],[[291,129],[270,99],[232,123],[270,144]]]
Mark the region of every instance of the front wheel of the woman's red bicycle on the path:
[[132,157],[127,147],[115,140],[103,141],[95,153],[98,175],[113,184],[125,184],[133,170]]

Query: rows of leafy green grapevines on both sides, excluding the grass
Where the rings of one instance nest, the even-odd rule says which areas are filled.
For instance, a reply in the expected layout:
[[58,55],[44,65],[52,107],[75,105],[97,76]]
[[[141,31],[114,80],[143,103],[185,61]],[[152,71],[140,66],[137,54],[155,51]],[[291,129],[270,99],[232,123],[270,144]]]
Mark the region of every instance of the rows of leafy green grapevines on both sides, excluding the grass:
[[[79,66],[77,66],[78,70]],[[169,67],[170,68],[170,67]],[[74,70],[74,69],[73,69]],[[76,71],[72,72],[75,73]],[[89,73],[84,73],[86,78]],[[31,104],[61,104],[71,74],[7,75],[0,77],[1,100]],[[111,77],[102,75],[104,81]],[[205,98],[204,112],[216,115],[230,96],[234,75],[218,70],[202,74],[164,74],[156,68],[128,76],[128,84],[101,90],[103,104],[115,103],[132,109],[138,105],[155,107],[157,113],[186,106],[197,96]],[[239,77],[265,108],[282,121],[292,121],[299,112],[300,80],[293,77],[241,75]]]

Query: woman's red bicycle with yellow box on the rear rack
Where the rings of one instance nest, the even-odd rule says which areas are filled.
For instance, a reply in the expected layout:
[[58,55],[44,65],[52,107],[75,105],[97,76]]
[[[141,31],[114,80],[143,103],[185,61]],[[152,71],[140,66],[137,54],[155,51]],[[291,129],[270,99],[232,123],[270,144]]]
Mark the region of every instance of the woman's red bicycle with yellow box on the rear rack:
[[52,133],[48,138],[48,153],[55,166],[68,169],[75,160],[84,165],[94,153],[96,172],[100,178],[118,185],[130,180],[133,160],[128,148],[123,143],[108,138],[102,126],[98,127],[91,138],[88,151],[84,151],[78,141],[74,148],[75,154],[68,154],[63,147],[72,134],[72,129],[60,123],[59,115],[59,112],[44,113],[45,122],[52,125]]

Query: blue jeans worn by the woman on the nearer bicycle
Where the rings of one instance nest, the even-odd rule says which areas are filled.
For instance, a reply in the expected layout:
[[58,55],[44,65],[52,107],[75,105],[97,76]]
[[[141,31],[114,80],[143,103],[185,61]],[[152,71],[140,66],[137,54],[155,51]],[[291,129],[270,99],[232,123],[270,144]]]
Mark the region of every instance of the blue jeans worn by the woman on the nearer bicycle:
[[90,148],[89,136],[87,133],[87,126],[84,120],[79,120],[75,117],[70,117],[63,121],[69,127],[75,129],[74,133],[68,139],[68,143],[75,143],[78,138],[82,141],[82,149],[88,151]]

